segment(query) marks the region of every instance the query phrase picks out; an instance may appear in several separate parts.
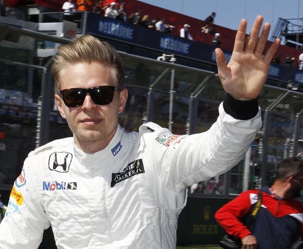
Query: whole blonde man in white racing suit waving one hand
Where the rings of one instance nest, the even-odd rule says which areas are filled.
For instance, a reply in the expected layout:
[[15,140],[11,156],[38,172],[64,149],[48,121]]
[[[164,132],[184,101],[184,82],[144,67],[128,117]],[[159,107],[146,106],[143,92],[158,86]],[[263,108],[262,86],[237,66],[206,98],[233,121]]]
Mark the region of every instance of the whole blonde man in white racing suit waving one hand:
[[236,165],[261,128],[257,97],[280,42],[262,57],[270,29],[265,23],[259,38],[262,22],[258,16],[245,45],[240,22],[228,65],[216,49],[228,94],[213,126],[193,135],[154,123],[125,132],[118,114],[127,89],[116,51],[90,35],[60,46],[55,99],[73,137],[28,155],[0,224],[0,248],[37,248],[50,225],[58,248],[175,248],[187,186]]

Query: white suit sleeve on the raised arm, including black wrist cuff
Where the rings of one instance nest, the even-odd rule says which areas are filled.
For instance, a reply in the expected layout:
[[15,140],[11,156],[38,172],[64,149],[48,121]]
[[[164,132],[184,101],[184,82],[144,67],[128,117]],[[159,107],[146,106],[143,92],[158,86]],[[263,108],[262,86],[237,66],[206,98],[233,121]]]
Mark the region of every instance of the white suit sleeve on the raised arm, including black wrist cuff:
[[169,131],[154,132],[155,168],[168,189],[180,193],[193,183],[228,171],[242,159],[262,121],[257,99],[240,103],[227,96],[219,106],[217,121],[208,131],[173,138],[166,147],[157,139]]

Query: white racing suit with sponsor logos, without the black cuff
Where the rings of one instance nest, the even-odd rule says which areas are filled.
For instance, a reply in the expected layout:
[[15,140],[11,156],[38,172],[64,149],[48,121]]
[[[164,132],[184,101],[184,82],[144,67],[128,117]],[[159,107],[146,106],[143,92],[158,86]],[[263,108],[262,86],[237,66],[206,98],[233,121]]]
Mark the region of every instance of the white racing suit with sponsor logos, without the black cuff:
[[[228,171],[261,127],[228,115],[204,133],[173,135],[146,123],[118,126],[105,150],[78,153],[73,138],[31,152],[0,225],[0,248],[33,249],[52,225],[59,249],[176,247],[187,186]],[[258,112],[258,110],[257,110]]]

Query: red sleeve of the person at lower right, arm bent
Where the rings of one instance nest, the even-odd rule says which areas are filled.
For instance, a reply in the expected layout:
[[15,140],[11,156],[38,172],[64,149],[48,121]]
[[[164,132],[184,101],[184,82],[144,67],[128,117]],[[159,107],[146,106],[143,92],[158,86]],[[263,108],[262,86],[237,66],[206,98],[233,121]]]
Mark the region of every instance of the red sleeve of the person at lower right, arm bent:
[[244,238],[251,234],[249,229],[240,222],[251,208],[250,193],[245,191],[234,198],[229,203],[225,204],[215,213],[215,219],[223,229],[233,236]]

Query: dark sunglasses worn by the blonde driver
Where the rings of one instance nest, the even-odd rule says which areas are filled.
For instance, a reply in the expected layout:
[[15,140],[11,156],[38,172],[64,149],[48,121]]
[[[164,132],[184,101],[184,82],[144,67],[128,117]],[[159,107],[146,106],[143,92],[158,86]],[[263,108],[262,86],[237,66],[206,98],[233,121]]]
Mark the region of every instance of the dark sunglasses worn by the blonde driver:
[[121,89],[116,86],[102,85],[91,88],[69,88],[61,90],[63,102],[67,107],[79,107],[83,105],[86,93],[89,93],[96,105],[109,105],[113,101],[114,90]]

